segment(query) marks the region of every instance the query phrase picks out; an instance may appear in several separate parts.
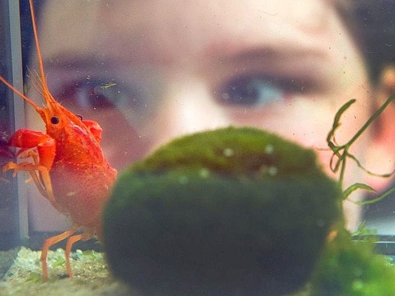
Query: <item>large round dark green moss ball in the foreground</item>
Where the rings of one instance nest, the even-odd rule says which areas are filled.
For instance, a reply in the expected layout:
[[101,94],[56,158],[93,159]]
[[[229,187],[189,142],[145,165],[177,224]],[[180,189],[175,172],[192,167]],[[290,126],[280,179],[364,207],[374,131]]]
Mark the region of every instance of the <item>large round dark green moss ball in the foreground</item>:
[[314,151],[253,128],[176,139],[104,212],[113,273],[145,295],[282,295],[311,274],[341,192]]

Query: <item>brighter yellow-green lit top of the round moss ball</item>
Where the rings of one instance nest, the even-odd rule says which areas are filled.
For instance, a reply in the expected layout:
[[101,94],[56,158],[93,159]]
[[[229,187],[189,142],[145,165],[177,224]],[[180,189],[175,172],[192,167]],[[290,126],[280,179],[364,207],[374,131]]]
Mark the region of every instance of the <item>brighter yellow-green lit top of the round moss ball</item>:
[[278,176],[320,172],[313,150],[248,127],[227,127],[177,138],[130,170],[207,168],[220,174],[251,177],[269,174],[266,169],[271,167],[276,167]]

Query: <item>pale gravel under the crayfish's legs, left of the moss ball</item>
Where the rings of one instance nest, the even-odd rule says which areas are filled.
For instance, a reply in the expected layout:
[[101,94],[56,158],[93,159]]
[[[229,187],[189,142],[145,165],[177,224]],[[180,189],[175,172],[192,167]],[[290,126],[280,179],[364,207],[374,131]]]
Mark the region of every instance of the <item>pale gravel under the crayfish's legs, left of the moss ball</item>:
[[[0,252],[1,258],[9,252]],[[80,251],[71,254],[74,277],[66,275],[63,249],[48,252],[49,280],[42,281],[40,251],[21,247],[14,263],[0,280],[0,296],[138,296],[114,279],[103,253]]]

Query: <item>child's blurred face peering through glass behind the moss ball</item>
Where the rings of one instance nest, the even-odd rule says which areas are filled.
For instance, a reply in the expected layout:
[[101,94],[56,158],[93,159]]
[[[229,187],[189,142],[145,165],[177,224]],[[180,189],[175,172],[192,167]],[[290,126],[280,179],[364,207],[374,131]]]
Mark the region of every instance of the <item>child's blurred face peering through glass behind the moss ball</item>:
[[[326,148],[341,105],[357,99],[340,143],[370,112],[362,57],[331,1],[46,1],[39,38],[50,90],[99,122],[118,170],[173,137],[228,125]],[[330,153],[318,153],[327,167]]]

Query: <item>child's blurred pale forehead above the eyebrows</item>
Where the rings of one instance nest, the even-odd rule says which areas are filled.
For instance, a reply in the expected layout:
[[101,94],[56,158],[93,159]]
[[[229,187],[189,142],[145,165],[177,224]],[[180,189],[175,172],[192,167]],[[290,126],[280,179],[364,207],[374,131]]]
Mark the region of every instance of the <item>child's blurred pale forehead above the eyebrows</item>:
[[316,47],[332,42],[340,23],[325,0],[47,1],[40,42],[48,57],[171,62],[231,55],[262,43],[276,50]]

